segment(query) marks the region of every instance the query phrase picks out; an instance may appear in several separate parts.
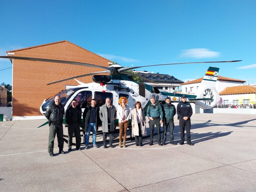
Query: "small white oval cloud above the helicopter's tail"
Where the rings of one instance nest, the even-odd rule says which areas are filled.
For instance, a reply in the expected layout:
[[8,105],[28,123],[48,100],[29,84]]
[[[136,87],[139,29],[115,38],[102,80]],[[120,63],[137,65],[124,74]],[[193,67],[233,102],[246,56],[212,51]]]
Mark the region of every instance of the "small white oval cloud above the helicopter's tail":
[[193,57],[193,58],[212,58],[218,57],[220,52],[210,51],[209,49],[185,49],[180,54],[181,57]]

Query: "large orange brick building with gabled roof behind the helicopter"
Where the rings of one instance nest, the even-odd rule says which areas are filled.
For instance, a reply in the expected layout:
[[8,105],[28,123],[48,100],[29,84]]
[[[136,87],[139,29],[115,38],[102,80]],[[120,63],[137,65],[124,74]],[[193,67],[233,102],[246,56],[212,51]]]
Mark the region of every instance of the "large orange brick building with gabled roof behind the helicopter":
[[[111,62],[66,40],[7,51],[7,54],[84,62],[105,67],[109,67],[108,62]],[[78,85],[74,79],[51,85],[46,85],[47,83],[101,70],[41,61],[11,59],[11,62],[13,64],[13,120],[43,118],[39,108],[45,99],[65,90],[66,85]],[[78,80],[89,83],[92,82],[92,76],[81,77]]]

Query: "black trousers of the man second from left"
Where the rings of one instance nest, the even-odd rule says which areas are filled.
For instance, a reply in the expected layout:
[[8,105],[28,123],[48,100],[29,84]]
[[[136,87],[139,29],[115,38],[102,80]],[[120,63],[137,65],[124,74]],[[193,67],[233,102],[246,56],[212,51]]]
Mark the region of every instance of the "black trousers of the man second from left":
[[81,146],[81,136],[80,136],[80,124],[79,122],[70,123],[68,125],[68,147],[72,147],[73,133],[76,135],[76,148]]

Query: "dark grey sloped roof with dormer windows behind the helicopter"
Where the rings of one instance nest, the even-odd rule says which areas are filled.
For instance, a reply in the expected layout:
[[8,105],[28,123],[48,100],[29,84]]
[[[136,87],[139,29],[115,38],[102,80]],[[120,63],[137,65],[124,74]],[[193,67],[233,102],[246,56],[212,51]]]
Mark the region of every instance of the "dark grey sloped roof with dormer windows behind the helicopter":
[[[159,73],[141,73],[141,72],[138,72],[138,74],[140,76],[143,76],[145,78],[149,78],[150,76],[152,77],[152,81],[156,81],[156,82],[167,82],[167,83],[184,83],[183,81],[173,77],[173,76],[170,76],[168,74],[159,74]],[[159,77],[159,80],[156,80],[156,78]],[[164,80],[164,77],[166,77],[166,81]],[[173,78],[173,80],[172,80]],[[146,80],[144,80],[146,81]]]

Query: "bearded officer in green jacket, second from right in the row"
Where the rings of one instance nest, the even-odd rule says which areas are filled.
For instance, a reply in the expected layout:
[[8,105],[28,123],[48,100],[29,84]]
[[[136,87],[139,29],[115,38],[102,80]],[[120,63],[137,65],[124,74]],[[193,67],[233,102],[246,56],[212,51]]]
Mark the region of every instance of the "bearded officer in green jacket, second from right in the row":
[[163,105],[163,113],[164,113],[164,133],[163,133],[163,145],[165,145],[166,142],[166,132],[169,126],[169,136],[170,136],[170,144],[177,145],[173,141],[173,128],[174,128],[174,122],[173,122],[173,116],[176,114],[176,108],[171,103],[171,100],[169,97],[165,99],[165,104]]

